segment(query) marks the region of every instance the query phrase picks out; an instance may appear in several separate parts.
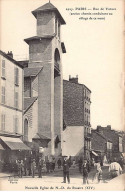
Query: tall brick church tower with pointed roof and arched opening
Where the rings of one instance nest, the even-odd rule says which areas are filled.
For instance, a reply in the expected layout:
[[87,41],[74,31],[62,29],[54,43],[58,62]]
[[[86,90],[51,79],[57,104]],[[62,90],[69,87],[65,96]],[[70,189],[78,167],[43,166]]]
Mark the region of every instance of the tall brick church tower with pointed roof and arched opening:
[[38,77],[38,133],[51,139],[50,154],[58,155],[55,141],[60,139],[63,128],[61,58],[66,52],[60,35],[65,21],[51,3],[32,11],[32,14],[37,20],[37,35],[25,39],[25,42],[29,45],[28,67],[43,67]]

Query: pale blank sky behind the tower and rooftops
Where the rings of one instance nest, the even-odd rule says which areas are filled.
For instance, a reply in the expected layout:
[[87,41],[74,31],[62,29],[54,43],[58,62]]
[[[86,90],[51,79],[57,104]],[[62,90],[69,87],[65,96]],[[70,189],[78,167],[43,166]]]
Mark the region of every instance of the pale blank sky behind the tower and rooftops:
[[[1,0],[2,51],[12,51],[17,60],[28,59],[28,45],[23,40],[36,35],[36,19],[31,11],[45,3],[48,0]],[[51,0],[51,3],[66,21],[61,26],[61,40],[67,51],[62,56],[63,78],[78,75],[79,83],[92,91],[92,128],[111,125],[123,130],[123,0]],[[81,7],[116,10],[104,11],[113,13],[105,20],[87,20],[87,15],[81,15],[83,19],[79,20],[79,15],[71,13],[85,12],[78,10]]]

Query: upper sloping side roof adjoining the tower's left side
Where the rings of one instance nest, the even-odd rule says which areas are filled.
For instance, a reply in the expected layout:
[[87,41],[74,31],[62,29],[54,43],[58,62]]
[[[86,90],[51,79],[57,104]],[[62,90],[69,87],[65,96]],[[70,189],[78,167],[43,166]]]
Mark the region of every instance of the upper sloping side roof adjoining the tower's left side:
[[24,68],[24,77],[35,77],[42,69],[43,67]]

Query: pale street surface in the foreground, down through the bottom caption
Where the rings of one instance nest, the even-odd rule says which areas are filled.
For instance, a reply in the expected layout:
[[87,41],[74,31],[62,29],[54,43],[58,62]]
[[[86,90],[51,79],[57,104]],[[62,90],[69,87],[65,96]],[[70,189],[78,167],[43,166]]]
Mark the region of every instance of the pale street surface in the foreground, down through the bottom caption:
[[[43,178],[23,177],[18,178],[17,176],[8,177],[0,179],[1,190],[123,190],[122,176],[120,176],[120,181],[118,178],[110,180],[108,177],[108,167],[103,168],[103,180],[101,183],[97,184],[92,182],[93,171],[89,174],[89,184],[83,185],[82,175],[79,173],[78,168],[70,169],[70,184],[62,183],[63,181],[63,171],[56,170],[56,172],[51,174],[43,174]],[[5,174],[3,174],[5,175]],[[6,174],[7,175],[7,174]],[[116,181],[117,180],[117,181]],[[112,184],[110,184],[112,182]]]

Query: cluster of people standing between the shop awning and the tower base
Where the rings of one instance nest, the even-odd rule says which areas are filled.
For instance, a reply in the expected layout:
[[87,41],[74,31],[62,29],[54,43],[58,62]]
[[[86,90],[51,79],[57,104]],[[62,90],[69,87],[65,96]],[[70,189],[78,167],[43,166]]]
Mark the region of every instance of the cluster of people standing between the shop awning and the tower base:
[[[42,157],[39,157],[38,159],[31,159],[28,157],[25,157],[24,160],[17,160],[17,170],[18,170],[18,176],[22,178],[22,176],[31,176],[34,178],[36,171],[38,172],[38,177],[42,178],[42,169],[45,166],[46,172],[51,173],[55,171],[55,158],[53,157],[51,161],[49,159],[43,160]],[[61,168],[62,161],[59,158],[57,161],[58,168]]]

